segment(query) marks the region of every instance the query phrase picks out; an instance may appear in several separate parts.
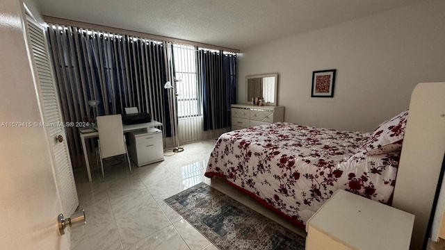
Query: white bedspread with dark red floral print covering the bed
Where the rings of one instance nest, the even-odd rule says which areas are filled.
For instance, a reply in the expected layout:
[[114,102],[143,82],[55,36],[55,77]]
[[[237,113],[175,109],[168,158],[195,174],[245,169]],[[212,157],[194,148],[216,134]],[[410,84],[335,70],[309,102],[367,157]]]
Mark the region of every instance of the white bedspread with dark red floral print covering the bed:
[[221,176],[261,203],[304,225],[341,188],[387,203],[399,153],[367,156],[371,133],[276,123],[220,136],[205,176]]

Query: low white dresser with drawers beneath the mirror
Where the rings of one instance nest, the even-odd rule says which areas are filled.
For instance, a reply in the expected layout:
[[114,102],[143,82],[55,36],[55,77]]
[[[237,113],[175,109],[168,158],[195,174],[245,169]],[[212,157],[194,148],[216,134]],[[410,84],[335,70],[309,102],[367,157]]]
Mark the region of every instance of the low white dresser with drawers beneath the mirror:
[[284,122],[283,106],[232,104],[232,130]]

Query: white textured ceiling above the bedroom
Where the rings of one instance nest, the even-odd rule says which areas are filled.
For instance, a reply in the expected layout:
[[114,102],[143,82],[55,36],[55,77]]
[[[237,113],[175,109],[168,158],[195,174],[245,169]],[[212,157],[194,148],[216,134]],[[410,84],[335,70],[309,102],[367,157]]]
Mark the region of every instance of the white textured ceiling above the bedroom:
[[42,15],[245,49],[425,0],[35,0]]

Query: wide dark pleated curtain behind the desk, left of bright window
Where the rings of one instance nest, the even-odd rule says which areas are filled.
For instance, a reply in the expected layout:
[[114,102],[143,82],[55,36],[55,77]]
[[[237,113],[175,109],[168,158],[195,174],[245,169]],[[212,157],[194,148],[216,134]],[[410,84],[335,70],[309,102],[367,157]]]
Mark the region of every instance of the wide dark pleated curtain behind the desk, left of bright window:
[[[87,121],[88,100],[94,99],[100,101],[97,115],[122,114],[136,106],[163,123],[164,136],[171,135],[162,42],[71,26],[49,25],[47,33],[65,122]],[[78,128],[67,127],[66,133],[73,165],[79,165]]]

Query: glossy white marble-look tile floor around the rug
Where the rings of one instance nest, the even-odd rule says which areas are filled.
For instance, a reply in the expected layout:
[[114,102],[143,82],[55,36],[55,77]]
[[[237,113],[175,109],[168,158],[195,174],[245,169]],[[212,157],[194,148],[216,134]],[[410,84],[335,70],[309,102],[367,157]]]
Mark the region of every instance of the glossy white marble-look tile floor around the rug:
[[219,178],[204,177],[216,140],[186,144],[184,152],[166,152],[165,160],[127,172],[121,159],[108,161],[105,182],[92,165],[91,183],[86,170],[74,171],[79,207],[86,213],[86,225],[72,228],[72,250],[88,249],[217,249],[163,199],[200,182],[212,185],[230,197],[257,210],[301,235],[305,231],[270,212],[257,201],[226,185]]

